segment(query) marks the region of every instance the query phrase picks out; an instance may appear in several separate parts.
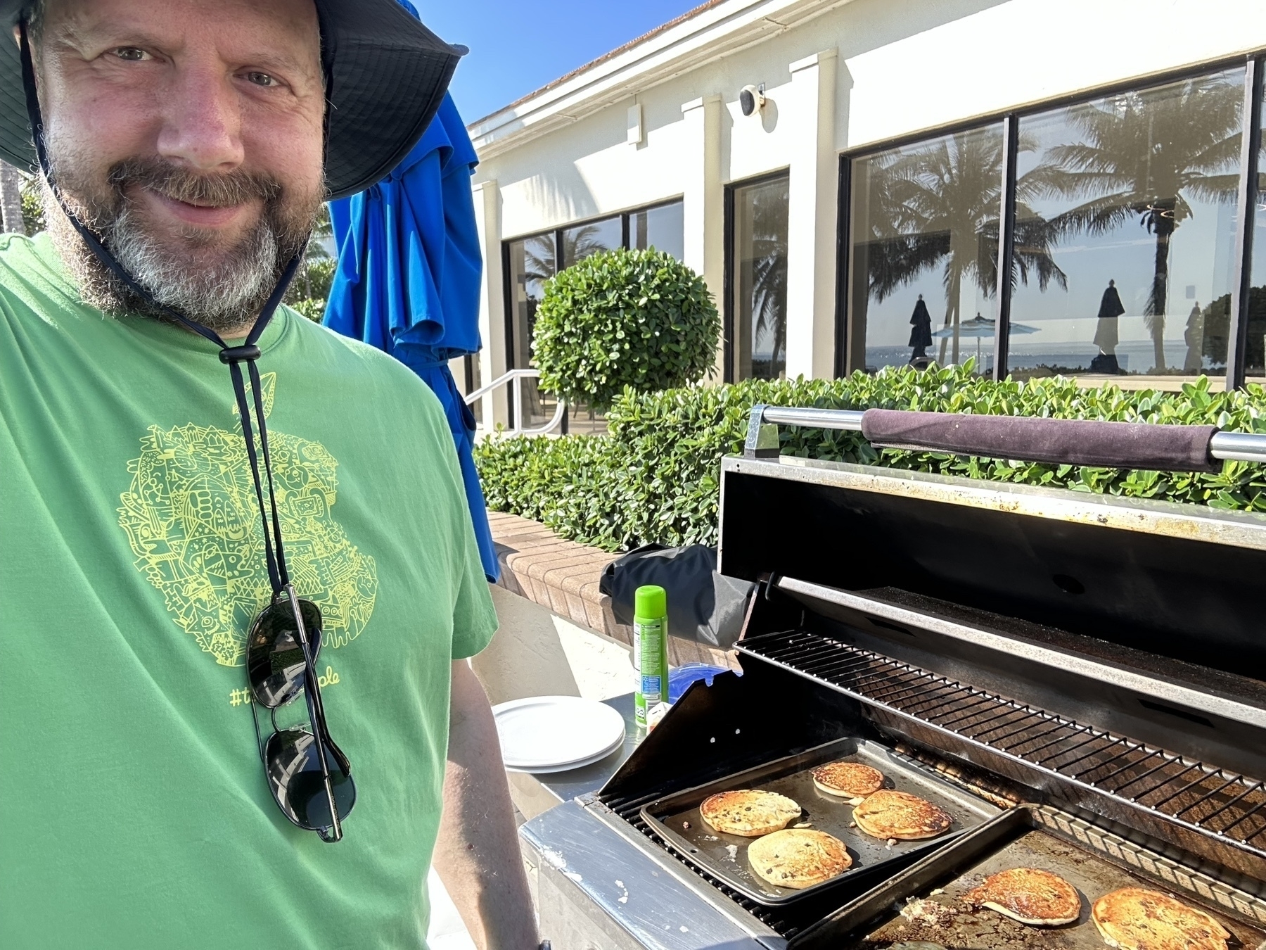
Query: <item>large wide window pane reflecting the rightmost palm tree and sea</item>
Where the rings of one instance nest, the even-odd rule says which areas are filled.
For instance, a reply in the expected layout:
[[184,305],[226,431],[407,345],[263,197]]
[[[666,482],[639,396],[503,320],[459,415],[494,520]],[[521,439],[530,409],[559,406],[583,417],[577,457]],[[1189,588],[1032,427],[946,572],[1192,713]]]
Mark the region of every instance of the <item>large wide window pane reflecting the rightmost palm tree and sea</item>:
[[1020,118],[1013,376],[1227,374],[1243,95],[1238,68]]

